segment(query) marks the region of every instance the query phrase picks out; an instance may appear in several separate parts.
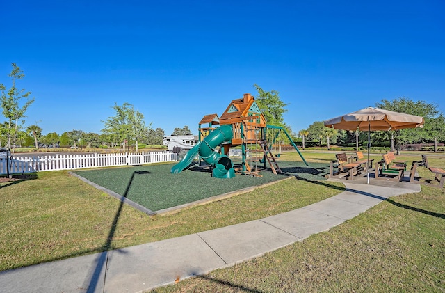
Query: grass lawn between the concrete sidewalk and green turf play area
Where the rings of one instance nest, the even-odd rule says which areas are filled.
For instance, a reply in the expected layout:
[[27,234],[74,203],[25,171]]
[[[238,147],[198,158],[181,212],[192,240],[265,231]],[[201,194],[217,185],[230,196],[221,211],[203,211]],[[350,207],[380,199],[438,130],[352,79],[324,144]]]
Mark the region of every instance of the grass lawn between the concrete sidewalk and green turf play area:
[[[132,168],[102,171],[113,169]],[[193,172],[200,175],[196,173]],[[237,177],[249,182],[258,179]],[[293,177],[178,214],[147,216],[128,205],[121,207],[119,200],[66,171],[41,172],[36,178],[0,183],[0,271],[261,219],[316,203],[344,190],[341,183],[316,184]],[[209,174],[205,178],[212,179]],[[179,187],[191,187],[193,182]],[[230,180],[219,182],[230,187],[227,184]],[[153,184],[145,180],[142,183]],[[172,190],[177,189],[169,182],[166,184]]]

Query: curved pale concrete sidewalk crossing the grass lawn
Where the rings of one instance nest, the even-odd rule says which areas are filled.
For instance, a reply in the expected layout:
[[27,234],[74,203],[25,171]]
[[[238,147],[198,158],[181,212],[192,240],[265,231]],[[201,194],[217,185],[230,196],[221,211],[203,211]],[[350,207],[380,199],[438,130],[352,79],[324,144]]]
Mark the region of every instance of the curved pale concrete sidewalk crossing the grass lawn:
[[282,248],[352,219],[419,184],[346,182],[346,191],[265,219],[115,251],[0,272],[1,292],[140,292]]

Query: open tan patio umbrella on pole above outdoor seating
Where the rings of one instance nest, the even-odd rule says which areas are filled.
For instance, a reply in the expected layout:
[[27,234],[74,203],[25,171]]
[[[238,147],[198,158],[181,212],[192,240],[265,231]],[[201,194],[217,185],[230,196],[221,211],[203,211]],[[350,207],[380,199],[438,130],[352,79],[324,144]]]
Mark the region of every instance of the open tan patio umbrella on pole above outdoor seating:
[[423,127],[423,117],[398,113],[378,108],[365,108],[343,116],[325,120],[325,126],[343,130],[368,130],[368,170],[369,184],[369,148],[371,147],[371,130],[398,130]]

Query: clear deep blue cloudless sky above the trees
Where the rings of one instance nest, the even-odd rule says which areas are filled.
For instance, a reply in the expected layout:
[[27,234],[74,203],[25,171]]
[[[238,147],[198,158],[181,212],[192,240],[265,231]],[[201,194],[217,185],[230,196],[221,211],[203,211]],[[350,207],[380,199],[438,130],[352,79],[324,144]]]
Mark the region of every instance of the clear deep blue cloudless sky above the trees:
[[443,0],[3,1],[0,83],[24,70],[25,125],[43,134],[100,133],[124,102],[197,134],[254,84],[289,104],[293,132],[397,97],[445,112],[444,13]]

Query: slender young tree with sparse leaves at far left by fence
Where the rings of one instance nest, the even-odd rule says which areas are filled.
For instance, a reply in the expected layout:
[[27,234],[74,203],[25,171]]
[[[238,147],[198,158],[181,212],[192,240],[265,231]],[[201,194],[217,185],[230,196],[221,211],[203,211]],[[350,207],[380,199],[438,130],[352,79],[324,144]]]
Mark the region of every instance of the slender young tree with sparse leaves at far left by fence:
[[[3,116],[5,116],[8,123],[6,128],[7,145],[11,153],[14,154],[17,135],[24,124],[22,119],[25,117],[25,112],[29,105],[34,102],[34,99],[29,97],[31,92],[17,88],[17,80],[23,79],[25,75],[15,63],[12,63],[12,65],[13,70],[8,74],[12,84],[10,89],[6,90],[6,86],[0,84],[0,105],[3,109]],[[24,102],[22,103],[22,101]]]

